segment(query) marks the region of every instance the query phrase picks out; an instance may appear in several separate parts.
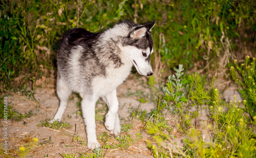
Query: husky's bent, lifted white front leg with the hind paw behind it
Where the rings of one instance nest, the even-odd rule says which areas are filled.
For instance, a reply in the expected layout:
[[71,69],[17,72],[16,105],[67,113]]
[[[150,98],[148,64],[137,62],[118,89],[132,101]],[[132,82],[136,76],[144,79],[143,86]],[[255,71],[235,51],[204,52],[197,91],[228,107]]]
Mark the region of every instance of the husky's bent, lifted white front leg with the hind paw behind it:
[[103,101],[108,105],[109,111],[106,114],[105,126],[111,131],[111,134],[118,135],[121,131],[120,120],[118,116],[118,99],[116,97],[116,89],[108,95],[102,97]]

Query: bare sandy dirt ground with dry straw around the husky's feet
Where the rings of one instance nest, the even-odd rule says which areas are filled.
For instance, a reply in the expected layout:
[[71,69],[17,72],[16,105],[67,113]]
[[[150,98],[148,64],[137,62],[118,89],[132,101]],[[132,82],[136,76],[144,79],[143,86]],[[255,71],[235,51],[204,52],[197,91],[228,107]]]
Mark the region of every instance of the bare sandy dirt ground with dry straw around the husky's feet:
[[[144,93],[148,94],[149,89],[147,88],[146,82],[148,78],[144,76],[136,76],[131,74],[129,78],[118,87],[117,95],[119,100],[119,115],[121,119],[121,125],[124,123],[131,123],[128,120],[130,116],[130,112],[132,108],[137,108],[140,102],[136,99],[138,95]],[[55,113],[57,112],[59,106],[59,100],[56,95],[54,81],[50,83],[44,83],[41,86],[42,88],[37,87],[35,98],[39,101],[40,107],[36,108],[36,105],[30,103],[29,101],[25,101],[17,96],[8,95],[8,103],[12,105],[14,109],[18,110],[20,113],[24,114],[25,112],[32,111],[36,113],[36,115],[22,119],[21,121],[11,121],[8,119],[8,153],[11,157],[18,157],[17,152],[19,151],[20,146],[26,145],[24,140],[26,137],[30,136],[32,138],[37,138],[39,140],[39,144],[31,146],[29,153],[27,153],[26,157],[61,157],[61,154],[75,154],[74,157],[79,156],[79,153],[90,153],[93,150],[89,149],[86,145],[82,145],[77,140],[73,141],[73,137],[81,136],[84,141],[86,139],[86,131],[84,126],[84,121],[81,115],[77,114],[79,107],[76,105],[79,102],[78,96],[76,94],[72,94],[68,101],[67,108],[62,117],[62,122],[68,122],[73,127],[70,129],[58,129],[53,130],[46,127],[38,127],[41,124],[41,120],[53,118]],[[224,91],[226,99],[232,100],[232,96],[235,95],[237,91],[234,89],[228,89]],[[27,98],[26,96],[21,97]],[[236,94],[239,100],[239,94]],[[30,98],[31,101],[34,101]],[[142,109],[146,111],[150,111],[155,108],[152,102],[147,102],[142,104]],[[101,100],[97,104],[97,109],[106,109],[106,105],[103,104]],[[204,108],[204,107],[202,107]],[[197,123],[198,127],[207,126],[210,123],[210,119],[208,117],[208,109],[200,110],[199,117],[197,118],[197,122],[192,120],[194,123]],[[98,115],[105,115],[107,111],[101,110]],[[178,132],[177,123],[178,120],[176,116],[172,116],[172,114],[168,114],[166,116],[166,120],[168,120],[168,124],[172,126],[173,136],[176,138],[173,140],[176,142],[176,145],[179,148],[183,148],[182,137]],[[24,123],[26,122],[26,123]],[[136,140],[136,133],[140,132],[140,130],[144,127],[145,124],[141,122],[141,120],[136,120],[133,123],[133,127],[129,132],[123,132],[121,135],[125,137],[127,134],[131,134],[133,139]],[[3,119],[1,118],[0,124],[0,144],[3,144]],[[119,143],[116,140],[113,134],[105,128],[104,119],[96,121],[96,134],[99,136],[103,132],[107,132],[110,141],[107,143],[117,144]],[[130,146],[126,150],[118,149],[103,149],[102,153],[104,157],[153,157],[152,152],[147,148],[147,140],[151,141],[150,136],[145,132],[142,132],[143,138],[141,140],[136,140],[135,143],[130,142]],[[49,142],[49,137],[51,137],[51,141]],[[210,138],[210,136],[206,133],[206,139]],[[98,142],[103,145],[103,142],[98,139]],[[169,144],[170,145],[170,144]],[[170,145],[172,146],[172,145]],[[177,148],[176,146],[176,148]],[[47,156],[48,155],[48,156]],[[3,156],[3,155],[2,155]],[[6,156],[6,155],[5,155]]]

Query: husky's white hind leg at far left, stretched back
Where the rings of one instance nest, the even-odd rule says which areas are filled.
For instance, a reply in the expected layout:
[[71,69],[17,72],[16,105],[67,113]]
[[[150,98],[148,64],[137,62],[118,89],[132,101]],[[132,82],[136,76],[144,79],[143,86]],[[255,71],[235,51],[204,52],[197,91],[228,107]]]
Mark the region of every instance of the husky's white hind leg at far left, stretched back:
[[61,121],[62,115],[67,107],[68,97],[71,93],[72,91],[70,91],[68,86],[63,82],[62,78],[59,78],[57,81],[57,94],[60,99],[60,106],[54,118],[50,120],[49,123],[53,123],[54,121]]

